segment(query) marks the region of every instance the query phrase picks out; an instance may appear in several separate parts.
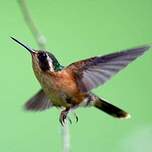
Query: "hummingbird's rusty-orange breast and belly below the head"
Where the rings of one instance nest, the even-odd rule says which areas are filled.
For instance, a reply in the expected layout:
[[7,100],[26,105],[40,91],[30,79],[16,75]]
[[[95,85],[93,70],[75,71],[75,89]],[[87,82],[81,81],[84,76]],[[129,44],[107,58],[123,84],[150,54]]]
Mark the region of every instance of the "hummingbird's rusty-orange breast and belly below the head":
[[80,93],[72,75],[65,70],[43,72],[36,63],[33,70],[45,94],[55,106],[69,107],[80,104],[86,94]]

